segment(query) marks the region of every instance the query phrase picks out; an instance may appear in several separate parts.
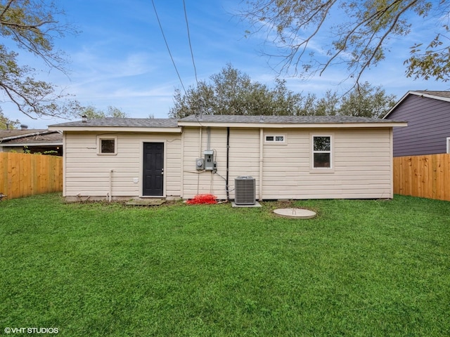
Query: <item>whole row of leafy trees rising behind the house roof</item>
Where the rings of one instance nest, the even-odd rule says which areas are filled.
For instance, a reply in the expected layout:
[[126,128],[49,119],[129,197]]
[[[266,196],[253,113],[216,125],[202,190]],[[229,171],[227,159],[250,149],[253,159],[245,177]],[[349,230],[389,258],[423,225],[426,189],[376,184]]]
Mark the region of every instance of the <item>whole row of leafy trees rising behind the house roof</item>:
[[293,93],[285,81],[276,79],[275,87],[252,81],[231,65],[226,65],[211,81],[199,81],[185,94],[175,90],[174,107],[169,117],[183,118],[190,114],[240,114],[273,116],[355,116],[383,117],[395,104],[395,96],[367,82],[346,95],[327,91],[322,98],[308,93]]

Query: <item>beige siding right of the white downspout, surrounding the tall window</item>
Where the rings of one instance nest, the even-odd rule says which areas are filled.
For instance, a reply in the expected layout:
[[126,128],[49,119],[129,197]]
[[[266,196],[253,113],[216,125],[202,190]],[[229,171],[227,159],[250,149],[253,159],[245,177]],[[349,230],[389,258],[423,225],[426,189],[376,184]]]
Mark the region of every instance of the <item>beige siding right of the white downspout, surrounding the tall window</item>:
[[[287,145],[264,145],[264,199],[392,197],[390,128],[280,132]],[[333,137],[332,170],[310,169],[312,134]]]

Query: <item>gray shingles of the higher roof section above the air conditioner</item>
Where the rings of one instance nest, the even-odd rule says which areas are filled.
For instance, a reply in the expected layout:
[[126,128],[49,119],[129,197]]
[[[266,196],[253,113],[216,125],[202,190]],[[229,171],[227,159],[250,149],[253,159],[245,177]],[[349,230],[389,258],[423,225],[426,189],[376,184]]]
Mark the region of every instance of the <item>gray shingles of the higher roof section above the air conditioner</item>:
[[274,124],[328,124],[328,123],[389,123],[389,119],[375,119],[352,116],[230,116],[230,115],[191,115],[179,121],[200,121],[212,123],[274,123]]

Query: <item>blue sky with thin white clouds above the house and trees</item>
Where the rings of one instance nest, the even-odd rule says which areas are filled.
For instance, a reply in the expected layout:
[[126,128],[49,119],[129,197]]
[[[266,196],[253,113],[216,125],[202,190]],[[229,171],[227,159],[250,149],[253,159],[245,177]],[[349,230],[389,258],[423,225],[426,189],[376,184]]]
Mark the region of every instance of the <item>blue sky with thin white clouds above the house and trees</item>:
[[[154,0],[170,51],[186,88],[195,85],[195,72],[188,44],[182,0]],[[80,31],[56,41],[70,60],[70,74],[49,71],[31,55],[20,59],[42,70],[40,79],[57,84],[75,95],[82,105],[99,110],[117,107],[129,117],[165,118],[173,106],[175,88],[181,83],[162,38],[151,0],[72,0],[59,1],[65,20]],[[240,0],[186,0],[191,44],[198,79],[209,79],[230,62],[252,80],[269,86],[276,72],[261,55],[264,36],[245,38],[246,22],[232,13],[242,6]],[[387,59],[366,72],[363,81],[382,86],[387,94],[401,98],[409,90],[447,90],[449,84],[434,80],[413,81],[404,76],[403,62],[413,43],[428,42],[437,31],[436,18],[414,25],[404,39],[390,41]],[[324,37],[325,39],[326,37]],[[316,48],[321,50],[321,46]],[[307,81],[286,77],[288,88],[295,92],[315,93],[321,97],[327,90],[345,91],[341,84],[345,69],[333,67],[321,77]],[[2,105],[10,119],[19,119],[30,128],[46,128],[64,119],[30,119],[12,105]]]

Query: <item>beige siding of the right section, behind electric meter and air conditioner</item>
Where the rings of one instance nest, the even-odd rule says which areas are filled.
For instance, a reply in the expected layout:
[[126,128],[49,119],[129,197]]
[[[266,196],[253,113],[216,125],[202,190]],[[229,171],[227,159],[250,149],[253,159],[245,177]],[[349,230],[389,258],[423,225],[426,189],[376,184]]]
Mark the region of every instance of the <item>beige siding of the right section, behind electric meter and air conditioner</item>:
[[[210,128],[217,173],[226,177],[226,128]],[[256,179],[259,199],[259,128],[230,128],[229,186],[234,178]],[[266,135],[285,136],[285,143],[264,142]],[[311,136],[332,136],[333,169],[311,169]],[[195,170],[195,159],[207,148],[207,128],[184,128],[184,195],[200,193],[226,198],[225,182],[210,171]],[[267,129],[263,131],[263,199],[352,199],[392,197],[391,128]]]

